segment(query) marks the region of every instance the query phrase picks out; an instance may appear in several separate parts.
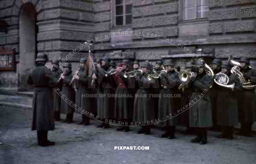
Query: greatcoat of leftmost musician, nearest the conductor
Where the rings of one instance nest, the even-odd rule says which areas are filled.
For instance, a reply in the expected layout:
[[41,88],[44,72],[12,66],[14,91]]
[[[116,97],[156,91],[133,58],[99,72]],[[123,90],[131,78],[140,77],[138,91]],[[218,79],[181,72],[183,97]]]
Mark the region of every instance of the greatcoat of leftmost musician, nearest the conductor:
[[[62,74],[61,69],[57,69],[56,71],[52,71],[53,76],[56,79],[60,78],[60,75]],[[53,88],[53,108],[55,111],[61,110],[61,96],[58,95],[59,90],[62,89],[62,85],[59,83],[57,87]],[[55,91],[56,90],[56,91]]]

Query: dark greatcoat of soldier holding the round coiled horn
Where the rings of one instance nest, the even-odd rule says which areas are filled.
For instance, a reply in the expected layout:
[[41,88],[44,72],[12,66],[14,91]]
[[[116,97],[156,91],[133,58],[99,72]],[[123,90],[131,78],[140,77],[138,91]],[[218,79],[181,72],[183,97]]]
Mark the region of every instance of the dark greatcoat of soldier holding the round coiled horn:
[[227,74],[229,82],[227,85],[235,83],[234,90],[222,87],[219,90],[216,108],[216,123],[221,126],[238,125],[238,102],[236,99],[236,90],[240,90],[240,82],[236,75]]

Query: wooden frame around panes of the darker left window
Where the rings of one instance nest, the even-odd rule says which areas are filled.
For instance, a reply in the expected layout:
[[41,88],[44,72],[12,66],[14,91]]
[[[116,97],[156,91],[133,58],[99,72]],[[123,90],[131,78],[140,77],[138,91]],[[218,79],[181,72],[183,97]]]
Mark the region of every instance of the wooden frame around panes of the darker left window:
[[[126,14],[126,5],[131,5],[131,14]],[[116,15],[116,6],[123,6],[122,15]],[[113,0],[113,27],[126,27],[132,25],[132,1],[130,3],[126,3],[126,0],[122,0],[122,4],[116,5],[116,0]],[[131,15],[131,24],[126,25],[126,15]],[[123,16],[123,24],[116,25],[116,17]]]

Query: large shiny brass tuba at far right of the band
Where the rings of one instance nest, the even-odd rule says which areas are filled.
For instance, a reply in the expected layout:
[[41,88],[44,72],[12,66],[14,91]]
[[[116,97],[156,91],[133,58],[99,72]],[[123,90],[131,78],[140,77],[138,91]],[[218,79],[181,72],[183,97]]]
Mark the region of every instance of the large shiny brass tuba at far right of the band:
[[[232,60],[232,55],[230,55],[230,57],[228,58],[228,62],[233,65],[234,67],[231,68],[230,72],[231,74],[235,74],[239,77],[239,81],[242,84],[242,87],[244,89],[253,89],[256,87],[256,85],[252,85],[252,83],[250,81],[247,81],[244,76],[243,73],[241,73],[240,68],[242,65],[240,64],[240,62],[236,62],[234,60]],[[250,65],[250,68],[252,68],[252,66]]]

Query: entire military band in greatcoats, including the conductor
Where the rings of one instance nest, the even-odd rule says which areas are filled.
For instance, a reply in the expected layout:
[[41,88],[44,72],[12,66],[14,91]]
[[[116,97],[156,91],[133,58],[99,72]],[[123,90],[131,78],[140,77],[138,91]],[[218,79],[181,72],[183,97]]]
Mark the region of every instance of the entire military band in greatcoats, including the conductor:
[[[221,63],[219,59],[212,61],[213,71],[215,73],[222,71],[227,74],[230,77],[229,84],[235,83],[234,91],[215,85],[213,77],[208,75],[204,68],[205,62],[197,63],[197,76],[193,76],[191,82],[182,90],[178,90],[178,86],[181,84],[179,72],[177,72],[178,67],[175,71],[175,64],[170,59],[165,60],[163,64],[157,62],[155,68],[149,62],[144,62],[139,66],[137,61],[131,62],[124,59],[115,68],[115,64],[110,61],[109,57],[105,56],[101,63],[96,62],[96,70],[93,76],[89,76],[86,65],[87,56],[81,58],[79,70],[73,75],[70,63],[64,63],[63,73],[60,69],[56,69],[58,68],[58,61],[52,62],[53,69],[52,72],[49,72],[48,68],[43,67],[47,61],[47,59],[42,59],[44,57],[45,54],[44,56],[38,55],[37,65],[28,79],[29,84],[35,85],[32,130],[38,131],[38,144],[41,146],[52,144],[46,137],[42,137],[41,131],[45,136],[47,133],[45,131],[54,129],[53,116],[58,121],[60,120],[60,111],[64,111],[66,119],[63,122],[73,122],[74,108],[67,103],[66,99],[61,98],[61,95],[55,91],[56,89],[61,90],[69,102],[76,102],[77,110],[84,110],[87,113],[97,115],[100,121],[97,127],[109,128],[109,122],[105,120],[114,119],[122,122],[117,131],[128,132],[129,125],[142,122],[139,124],[142,126],[137,133],[148,135],[152,127],[152,124],[148,124],[148,122],[158,119],[158,125],[165,128],[165,133],[161,137],[175,139],[175,127],[179,122],[183,122],[188,127],[188,133],[196,132],[197,134],[197,137],[191,142],[206,144],[207,129],[212,125],[217,124],[222,127],[222,133],[219,137],[233,139],[233,127],[239,121],[241,123],[240,134],[251,135],[251,124],[256,120],[256,107],[253,101],[253,98],[256,97],[254,90],[243,89],[238,77],[230,74],[231,66],[228,63]],[[244,77],[247,80],[250,79],[251,82],[256,82],[256,72],[248,67],[249,60],[241,58],[240,62],[243,65],[241,71]],[[191,65],[192,63],[186,64],[186,71],[192,71]],[[165,72],[162,74],[163,68]],[[133,74],[130,74],[131,72]],[[157,73],[159,78],[150,78],[154,73]],[[51,90],[51,93],[53,91],[52,96],[49,95],[49,88],[53,88]],[[198,96],[205,90],[207,92],[199,99]],[[83,96],[86,94],[97,94],[98,96],[97,98]],[[99,96],[113,94],[143,96]],[[182,96],[159,96],[156,98],[152,97],[152,94],[181,94]],[[43,98],[42,96],[45,95],[49,96]],[[195,103],[195,99],[199,100]],[[52,100],[54,101],[55,113],[49,115],[50,112],[48,114],[44,113],[45,111],[42,112],[43,108],[49,111],[50,108],[46,105],[46,101],[51,102]],[[190,107],[189,104],[191,103],[193,105]],[[190,108],[184,110],[179,116],[171,116],[170,119],[166,119],[166,116],[177,113],[177,110],[186,105],[189,105]],[[51,119],[44,118],[47,116]],[[160,120],[165,121],[161,122]],[[90,117],[83,114],[82,122],[79,124],[89,125]]]

